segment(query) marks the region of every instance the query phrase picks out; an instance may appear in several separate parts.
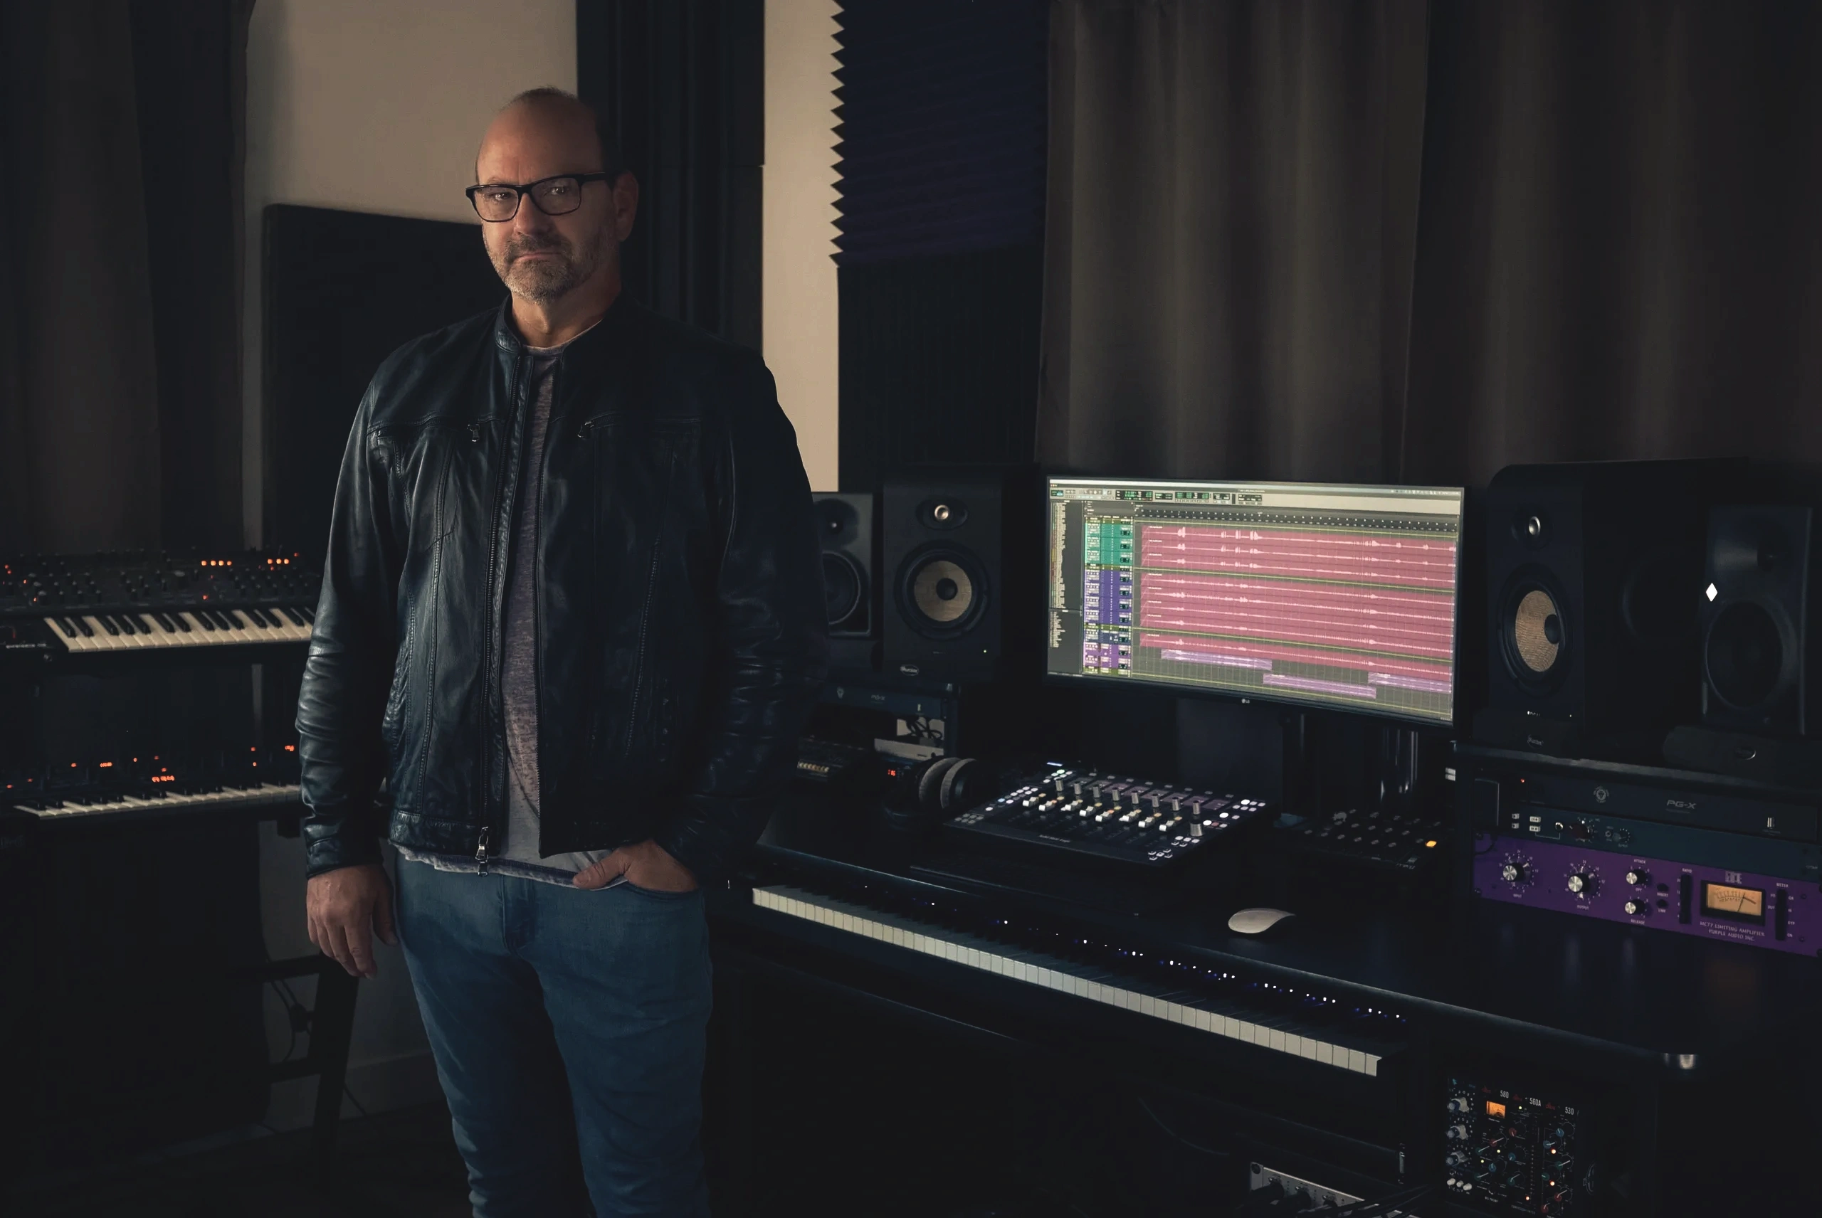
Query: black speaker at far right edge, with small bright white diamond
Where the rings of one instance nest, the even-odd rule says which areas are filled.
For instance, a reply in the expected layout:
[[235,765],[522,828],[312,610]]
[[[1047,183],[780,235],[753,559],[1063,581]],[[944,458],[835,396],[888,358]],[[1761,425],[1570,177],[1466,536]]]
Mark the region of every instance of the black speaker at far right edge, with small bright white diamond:
[[1813,714],[1811,508],[1724,506],[1709,513],[1702,595],[1702,723],[1769,736],[1822,734]]

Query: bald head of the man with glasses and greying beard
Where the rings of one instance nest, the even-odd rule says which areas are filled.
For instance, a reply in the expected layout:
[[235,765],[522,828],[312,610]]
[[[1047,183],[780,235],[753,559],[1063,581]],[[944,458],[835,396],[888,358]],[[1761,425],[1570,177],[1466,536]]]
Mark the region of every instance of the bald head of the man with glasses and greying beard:
[[574,95],[530,89],[494,115],[476,157],[479,186],[594,177],[550,184],[548,198],[523,191],[510,218],[481,224],[494,269],[519,302],[548,313],[565,311],[559,304],[570,297],[576,304],[619,291],[619,242],[632,229],[640,195],[630,173],[607,177],[616,169],[594,109]]

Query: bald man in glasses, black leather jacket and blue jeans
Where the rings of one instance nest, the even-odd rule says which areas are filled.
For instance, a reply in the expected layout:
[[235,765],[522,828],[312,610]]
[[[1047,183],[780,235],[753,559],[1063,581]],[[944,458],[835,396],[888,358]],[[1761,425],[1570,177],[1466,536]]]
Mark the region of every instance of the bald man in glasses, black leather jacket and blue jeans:
[[809,486],[760,359],[621,295],[638,184],[592,111],[519,95],[476,180],[510,297],[386,359],[335,490],[310,936],[374,974],[384,810],[474,1213],[581,1213],[579,1174],[603,1218],[701,1214],[701,887],[820,685]]

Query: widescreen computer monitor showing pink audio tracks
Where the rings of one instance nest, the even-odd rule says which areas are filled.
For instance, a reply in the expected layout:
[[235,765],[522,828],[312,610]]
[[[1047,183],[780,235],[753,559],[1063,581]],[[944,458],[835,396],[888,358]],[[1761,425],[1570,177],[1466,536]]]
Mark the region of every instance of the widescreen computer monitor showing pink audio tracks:
[[1461,488],[1051,477],[1055,677],[1454,721]]

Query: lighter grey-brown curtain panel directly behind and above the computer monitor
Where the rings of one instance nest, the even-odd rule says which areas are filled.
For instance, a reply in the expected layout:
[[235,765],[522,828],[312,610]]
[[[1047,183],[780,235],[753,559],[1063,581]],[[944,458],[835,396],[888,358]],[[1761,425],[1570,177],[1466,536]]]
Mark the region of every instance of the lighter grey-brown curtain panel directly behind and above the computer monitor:
[[1040,459],[1379,475],[1423,42],[1408,0],[1053,5]]

